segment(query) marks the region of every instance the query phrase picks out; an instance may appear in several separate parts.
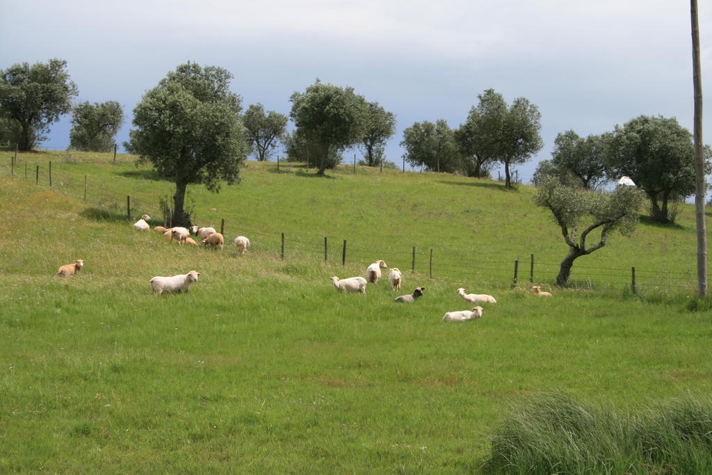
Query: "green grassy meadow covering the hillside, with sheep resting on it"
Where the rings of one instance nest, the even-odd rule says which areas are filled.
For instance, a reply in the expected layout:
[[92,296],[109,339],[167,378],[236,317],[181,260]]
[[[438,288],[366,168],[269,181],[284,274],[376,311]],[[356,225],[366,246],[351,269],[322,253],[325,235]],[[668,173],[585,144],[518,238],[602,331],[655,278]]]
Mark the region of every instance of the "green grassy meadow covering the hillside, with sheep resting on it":
[[[558,290],[567,248],[530,187],[249,162],[220,194],[189,189],[198,224],[225,219],[227,242],[251,239],[238,256],[132,229],[144,212],[160,224],[173,187],[130,156],[20,154],[11,178],[11,155],[0,152],[1,472],[478,472],[513,400],[557,391],[634,409],[711,392],[712,315],[686,309],[691,207],[675,226],[610,236],[575,263],[580,285]],[[552,298],[528,291],[530,254]],[[53,276],[75,259],[78,276]],[[399,306],[385,279],[365,296],[328,281],[376,259],[404,271],[401,293],[425,295]],[[193,269],[189,293],[151,294],[152,276]],[[468,308],[459,287],[498,303],[446,324]]]

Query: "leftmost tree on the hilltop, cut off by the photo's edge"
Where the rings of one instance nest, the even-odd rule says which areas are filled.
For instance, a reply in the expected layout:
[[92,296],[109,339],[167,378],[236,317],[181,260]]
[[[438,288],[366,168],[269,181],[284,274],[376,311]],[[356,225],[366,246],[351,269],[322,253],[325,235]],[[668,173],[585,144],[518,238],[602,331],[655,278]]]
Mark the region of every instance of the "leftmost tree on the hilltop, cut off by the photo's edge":
[[49,126],[71,110],[77,85],[67,62],[17,63],[0,71],[0,115],[16,124],[19,150],[31,150],[45,140]]

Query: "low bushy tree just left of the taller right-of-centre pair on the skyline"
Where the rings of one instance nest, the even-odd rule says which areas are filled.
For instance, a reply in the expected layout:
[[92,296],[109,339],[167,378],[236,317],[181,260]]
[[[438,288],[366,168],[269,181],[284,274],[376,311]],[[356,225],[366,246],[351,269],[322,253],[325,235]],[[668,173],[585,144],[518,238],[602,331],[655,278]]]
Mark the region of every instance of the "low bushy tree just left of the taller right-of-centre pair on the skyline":
[[414,167],[424,165],[430,171],[450,173],[459,169],[454,132],[443,119],[436,123],[415,122],[403,131],[400,145],[405,148],[405,159]]

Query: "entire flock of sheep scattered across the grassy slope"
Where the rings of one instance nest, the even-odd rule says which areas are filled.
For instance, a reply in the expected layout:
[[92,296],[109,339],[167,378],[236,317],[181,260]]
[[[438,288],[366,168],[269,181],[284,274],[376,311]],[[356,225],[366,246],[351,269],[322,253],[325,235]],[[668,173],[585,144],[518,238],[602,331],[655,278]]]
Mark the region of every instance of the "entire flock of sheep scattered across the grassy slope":
[[[133,225],[138,231],[148,231],[150,226],[148,220],[151,219],[150,216],[144,214],[141,219],[135,222]],[[178,244],[193,244],[197,246],[197,241],[190,237],[191,234],[197,236],[205,246],[210,246],[213,249],[219,248],[223,249],[225,244],[225,238],[219,232],[216,232],[214,228],[211,227],[200,227],[191,226],[190,228],[184,228],[182,226],[174,226],[172,228],[165,228],[164,226],[155,226],[154,231],[157,231],[171,241],[176,239]],[[234,244],[240,255],[244,254],[246,249],[250,246],[250,240],[245,236],[237,236],[234,240]],[[77,259],[74,263],[66,264],[61,266],[57,271],[57,276],[67,277],[73,276],[78,273],[84,266],[83,259]],[[366,278],[363,277],[349,277],[349,278],[338,278],[333,276],[330,280],[340,292],[358,292],[362,295],[366,293],[367,283],[377,283],[381,276],[381,269],[388,268],[386,263],[382,260],[376,261],[366,268]],[[190,271],[186,274],[179,274],[177,276],[155,276],[149,283],[151,284],[152,291],[154,293],[185,293],[188,291],[190,284],[192,282],[197,282],[200,273],[197,271]],[[388,274],[388,282],[391,289],[396,291],[400,290],[402,283],[402,273],[399,268],[391,268]],[[399,296],[393,299],[394,302],[399,303],[412,303],[416,301],[417,298],[421,297],[425,291],[425,287],[417,287],[414,289],[412,294]],[[539,286],[533,286],[532,291],[540,297],[550,297],[551,293],[544,292]],[[457,289],[457,293],[465,301],[476,304],[476,303],[497,303],[493,296],[481,293],[466,293],[464,288]],[[463,322],[466,320],[473,320],[474,318],[480,318],[483,313],[483,308],[480,306],[474,307],[472,310],[459,310],[455,312],[447,312],[443,315],[444,321],[452,322]]]

